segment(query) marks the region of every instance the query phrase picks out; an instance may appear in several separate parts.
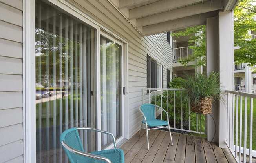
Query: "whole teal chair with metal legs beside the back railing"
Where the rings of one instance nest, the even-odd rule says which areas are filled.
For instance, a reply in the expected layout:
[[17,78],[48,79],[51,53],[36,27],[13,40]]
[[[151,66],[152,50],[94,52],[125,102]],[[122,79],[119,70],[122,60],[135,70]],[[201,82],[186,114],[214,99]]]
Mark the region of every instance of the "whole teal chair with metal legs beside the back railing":
[[[155,118],[156,108],[159,108],[163,112],[166,113],[167,121],[158,120],[158,119]],[[141,129],[142,129],[143,124],[146,125],[146,136],[147,136],[147,142],[148,142],[148,150],[149,150],[148,130],[152,130],[152,129],[168,128],[169,132],[170,132],[171,145],[173,145],[172,144],[172,134],[171,134],[171,130],[170,130],[168,112],[166,112],[163,108],[161,108],[157,105],[153,105],[153,104],[143,104],[139,107],[139,110],[140,110],[140,112],[142,114],[142,117],[143,117],[143,120],[141,122]],[[139,131],[139,136],[141,136],[141,130]]]

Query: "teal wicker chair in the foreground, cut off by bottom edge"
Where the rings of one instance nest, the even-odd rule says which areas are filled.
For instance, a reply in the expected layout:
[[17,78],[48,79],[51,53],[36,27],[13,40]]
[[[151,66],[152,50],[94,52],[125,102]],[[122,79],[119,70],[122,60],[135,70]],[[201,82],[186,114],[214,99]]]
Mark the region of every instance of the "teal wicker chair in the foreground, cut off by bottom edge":
[[[92,130],[110,134],[113,138],[115,149],[91,153],[84,152],[78,130]],[[124,152],[121,149],[117,149],[114,135],[103,130],[88,127],[71,128],[61,134],[60,142],[70,163],[124,163]]]

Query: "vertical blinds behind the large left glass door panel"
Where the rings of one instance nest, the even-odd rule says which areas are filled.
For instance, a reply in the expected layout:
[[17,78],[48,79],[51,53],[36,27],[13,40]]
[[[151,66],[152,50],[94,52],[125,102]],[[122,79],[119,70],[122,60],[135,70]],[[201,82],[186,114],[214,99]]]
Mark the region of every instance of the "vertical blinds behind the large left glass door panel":
[[[35,36],[37,163],[67,163],[60,134],[92,123],[88,63],[95,29],[37,0]],[[86,151],[95,148],[91,133],[80,137]]]

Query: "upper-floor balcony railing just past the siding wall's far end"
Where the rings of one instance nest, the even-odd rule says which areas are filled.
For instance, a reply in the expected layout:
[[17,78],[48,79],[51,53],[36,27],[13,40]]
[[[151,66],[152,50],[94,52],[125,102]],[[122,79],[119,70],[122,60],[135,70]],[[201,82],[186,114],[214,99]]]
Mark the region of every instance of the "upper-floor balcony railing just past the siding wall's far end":
[[174,62],[178,62],[179,60],[190,60],[193,54],[193,49],[190,47],[178,47],[174,48]]

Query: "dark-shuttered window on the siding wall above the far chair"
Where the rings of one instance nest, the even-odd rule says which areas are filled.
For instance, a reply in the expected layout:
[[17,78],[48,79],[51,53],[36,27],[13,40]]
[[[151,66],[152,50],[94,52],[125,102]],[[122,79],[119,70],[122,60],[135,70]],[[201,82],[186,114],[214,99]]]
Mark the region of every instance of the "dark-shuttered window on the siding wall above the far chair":
[[161,88],[161,65],[147,57],[147,87]]

